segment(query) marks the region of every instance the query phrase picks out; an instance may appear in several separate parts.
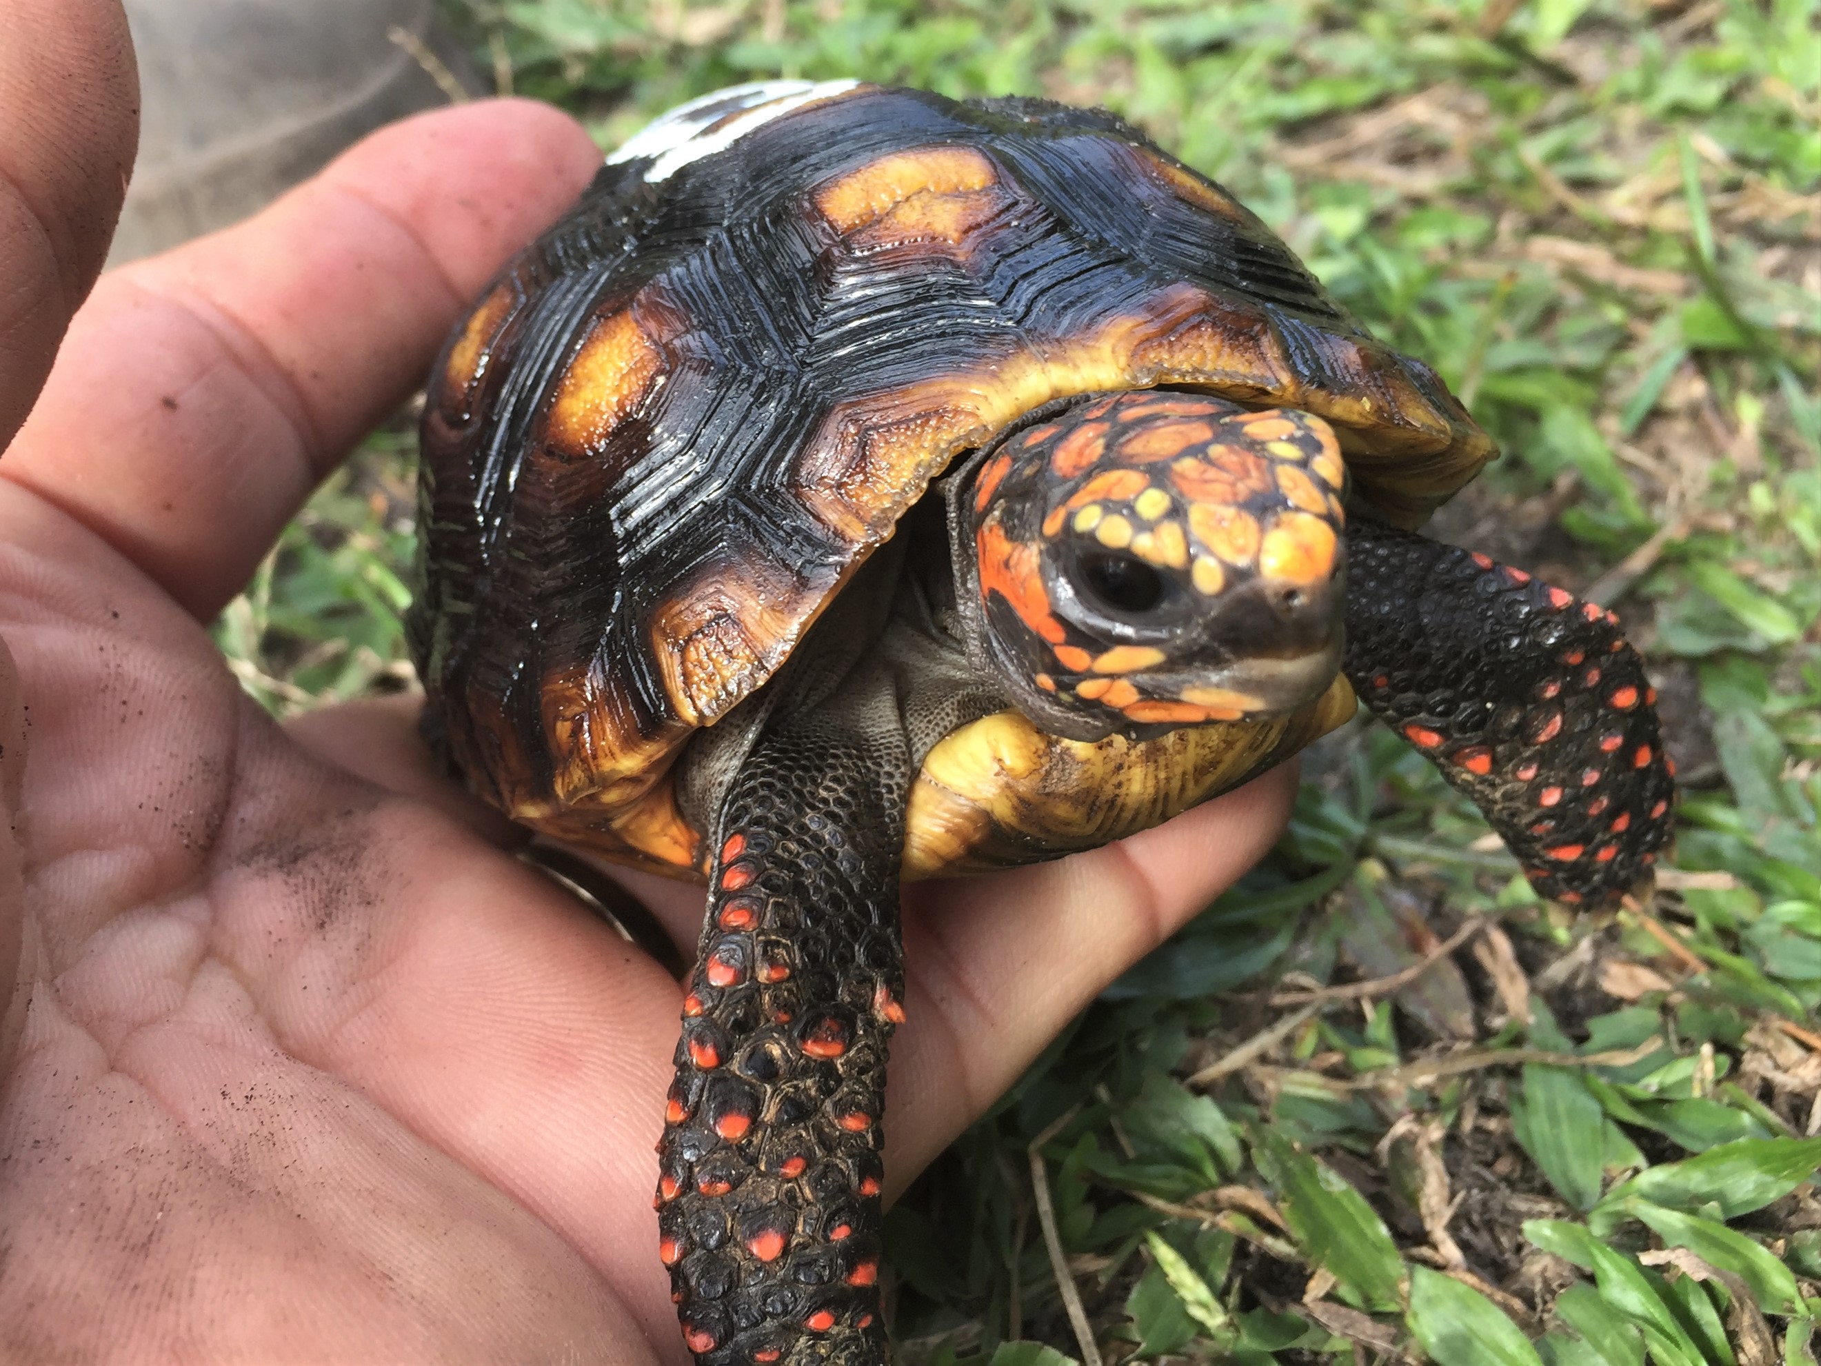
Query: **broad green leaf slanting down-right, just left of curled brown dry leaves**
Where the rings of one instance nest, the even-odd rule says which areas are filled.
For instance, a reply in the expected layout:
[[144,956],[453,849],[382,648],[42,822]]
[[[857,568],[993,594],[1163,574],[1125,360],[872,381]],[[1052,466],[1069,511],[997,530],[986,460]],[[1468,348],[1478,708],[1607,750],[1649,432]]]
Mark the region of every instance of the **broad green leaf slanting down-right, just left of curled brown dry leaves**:
[[1366,1197],[1269,1129],[1253,1129],[1253,1158],[1277,1189],[1304,1255],[1333,1271],[1369,1308],[1399,1308],[1404,1260]]

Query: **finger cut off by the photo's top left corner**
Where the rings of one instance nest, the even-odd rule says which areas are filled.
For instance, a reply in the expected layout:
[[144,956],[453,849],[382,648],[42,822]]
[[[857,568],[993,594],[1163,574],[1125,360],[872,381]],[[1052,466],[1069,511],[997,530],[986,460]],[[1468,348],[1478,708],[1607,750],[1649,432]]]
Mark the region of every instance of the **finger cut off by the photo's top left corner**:
[[138,146],[118,0],[0,0],[0,450],[107,255]]

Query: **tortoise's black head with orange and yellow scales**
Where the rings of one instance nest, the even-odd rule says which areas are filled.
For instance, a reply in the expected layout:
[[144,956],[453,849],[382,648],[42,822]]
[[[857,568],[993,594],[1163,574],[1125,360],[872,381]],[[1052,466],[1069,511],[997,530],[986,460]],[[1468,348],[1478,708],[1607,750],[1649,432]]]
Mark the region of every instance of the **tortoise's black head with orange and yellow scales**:
[[1311,413],[1071,401],[958,490],[976,643],[1020,710],[1074,739],[1293,712],[1340,668],[1344,481]]

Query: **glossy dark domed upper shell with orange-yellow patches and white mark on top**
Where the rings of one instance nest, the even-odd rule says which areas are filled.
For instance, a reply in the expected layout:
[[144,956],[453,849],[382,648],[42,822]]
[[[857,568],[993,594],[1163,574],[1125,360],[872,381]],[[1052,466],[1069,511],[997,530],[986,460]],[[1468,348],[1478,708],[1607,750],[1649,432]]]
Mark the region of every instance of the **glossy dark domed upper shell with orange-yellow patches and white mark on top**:
[[408,628],[448,758],[524,823],[694,867],[668,765],[929,483],[1054,399],[1162,384],[1328,419],[1406,526],[1495,454],[1111,115],[854,82],[672,111],[433,372]]

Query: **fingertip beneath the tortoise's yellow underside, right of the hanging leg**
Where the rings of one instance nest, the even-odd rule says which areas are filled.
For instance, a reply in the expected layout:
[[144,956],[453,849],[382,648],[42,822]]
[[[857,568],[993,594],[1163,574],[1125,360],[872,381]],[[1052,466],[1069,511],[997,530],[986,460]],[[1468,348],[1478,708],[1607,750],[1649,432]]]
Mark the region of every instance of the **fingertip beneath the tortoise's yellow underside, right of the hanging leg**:
[[903,1189],[1107,984],[1231,887],[1284,832],[1295,761],[1156,829],[905,896],[905,1014],[887,1091]]

